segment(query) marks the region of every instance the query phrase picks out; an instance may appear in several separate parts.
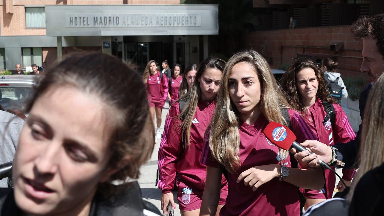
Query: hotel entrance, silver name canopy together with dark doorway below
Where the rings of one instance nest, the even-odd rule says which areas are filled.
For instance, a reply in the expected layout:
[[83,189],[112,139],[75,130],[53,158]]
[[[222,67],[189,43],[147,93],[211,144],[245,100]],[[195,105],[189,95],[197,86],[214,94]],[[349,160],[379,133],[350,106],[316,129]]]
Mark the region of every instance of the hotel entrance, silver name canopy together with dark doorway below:
[[100,47],[139,73],[149,60],[160,70],[164,60],[182,70],[199,64],[208,57],[208,35],[218,34],[218,5],[46,5],[45,15],[58,59],[63,47]]

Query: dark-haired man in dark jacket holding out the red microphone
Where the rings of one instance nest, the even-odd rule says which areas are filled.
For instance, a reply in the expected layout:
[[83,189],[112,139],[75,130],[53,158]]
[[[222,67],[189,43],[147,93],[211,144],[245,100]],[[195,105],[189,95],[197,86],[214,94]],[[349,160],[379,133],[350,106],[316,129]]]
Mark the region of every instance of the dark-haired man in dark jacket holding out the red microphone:
[[[362,17],[354,22],[351,26],[351,33],[356,38],[362,39],[362,57],[360,70],[362,73],[367,73],[372,82],[369,83],[364,90],[362,90],[359,100],[361,120],[364,118],[364,109],[371,91],[373,83],[384,71],[384,13],[375,15],[373,17]],[[362,124],[359,126],[358,135],[356,140],[349,143],[336,143],[333,147],[336,150],[336,159],[346,163],[344,168],[351,168],[358,166],[356,161],[357,154],[360,148],[360,137],[362,131]],[[301,159],[304,163],[310,166],[316,166],[318,159],[329,162],[332,158],[332,150],[328,146],[318,141],[306,141],[303,146],[309,148],[313,155],[306,156],[306,152],[296,153],[295,158]]]

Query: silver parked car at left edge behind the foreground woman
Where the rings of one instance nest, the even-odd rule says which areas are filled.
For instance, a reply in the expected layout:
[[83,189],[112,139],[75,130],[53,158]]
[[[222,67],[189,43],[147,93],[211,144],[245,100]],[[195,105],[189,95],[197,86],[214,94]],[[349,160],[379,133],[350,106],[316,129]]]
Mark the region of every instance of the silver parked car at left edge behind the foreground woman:
[[13,113],[25,119],[23,110],[33,96],[33,87],[39,84],[43,76],[3,75],[0,78],[0,110]]

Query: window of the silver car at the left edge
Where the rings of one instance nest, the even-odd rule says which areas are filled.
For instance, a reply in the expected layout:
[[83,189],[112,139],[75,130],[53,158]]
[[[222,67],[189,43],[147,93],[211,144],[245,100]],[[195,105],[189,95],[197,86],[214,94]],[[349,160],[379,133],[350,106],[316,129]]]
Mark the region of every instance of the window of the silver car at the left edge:
[[13,109],[23,111],[25,103],[33,96],[32,87],[1,87],[0,104],[4,110]]

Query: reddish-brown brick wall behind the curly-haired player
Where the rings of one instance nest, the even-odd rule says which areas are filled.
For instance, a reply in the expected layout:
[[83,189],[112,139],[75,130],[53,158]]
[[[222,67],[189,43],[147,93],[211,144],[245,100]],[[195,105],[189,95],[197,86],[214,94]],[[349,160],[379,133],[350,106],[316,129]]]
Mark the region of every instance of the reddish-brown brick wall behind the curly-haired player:
[[[254,31],[245,36],[246,48],[261,53],[273,67],[290,65],[298,56],[336,58],[339,72],[346,76],[363,75],[360,72],[362,47],[349,32],[350,26],[313,27],[281,30]],[[335,53],[329,46],[344,42],[344,49]]]

